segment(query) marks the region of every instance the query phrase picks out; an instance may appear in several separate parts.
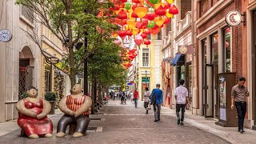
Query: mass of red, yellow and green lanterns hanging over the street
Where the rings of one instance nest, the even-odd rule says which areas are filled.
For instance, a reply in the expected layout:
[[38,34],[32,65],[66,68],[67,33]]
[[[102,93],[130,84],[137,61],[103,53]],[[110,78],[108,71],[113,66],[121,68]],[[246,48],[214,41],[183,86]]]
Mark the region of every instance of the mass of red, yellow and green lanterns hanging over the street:
[[[149,34],[158,34],[163,26],[170,22],[178,14],[178,8],[174,5],[174,0],[110,0],[114,7],[110,8],[116,14],[113,22],[122,26],[122,30],[113,32],[112,36],[126,38],[133,37],[138,48],[144,44],[150,45],[147,39]],[[102,14],[101,14],[102,15]],[[121,42],[118,42],[120,45]],[[136,48],[122,51],[122,66],[128,69],[130,62],[137,56]]]

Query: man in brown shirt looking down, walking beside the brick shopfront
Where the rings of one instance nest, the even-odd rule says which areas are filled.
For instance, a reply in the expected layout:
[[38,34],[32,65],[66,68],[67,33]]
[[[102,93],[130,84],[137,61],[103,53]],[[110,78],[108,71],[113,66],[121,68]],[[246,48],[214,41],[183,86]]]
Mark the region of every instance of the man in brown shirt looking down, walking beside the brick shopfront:
[[232,87],[231,90],[231,109],[234,110],[234,105],[238,111],[238,131],[243,134],[243,122],[246,116],[246,97],[249,97],[249,91],[244,86],[246,78],[240,77],[238,84]]

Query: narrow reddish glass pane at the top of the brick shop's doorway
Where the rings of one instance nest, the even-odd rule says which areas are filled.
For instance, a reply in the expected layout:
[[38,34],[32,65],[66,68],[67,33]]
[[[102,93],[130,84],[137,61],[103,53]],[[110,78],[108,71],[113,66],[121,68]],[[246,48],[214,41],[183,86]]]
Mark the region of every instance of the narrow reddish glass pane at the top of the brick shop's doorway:
[[217,63],[218,64],[218,33],[215,33],[210,36],[211,40],[211,63]]

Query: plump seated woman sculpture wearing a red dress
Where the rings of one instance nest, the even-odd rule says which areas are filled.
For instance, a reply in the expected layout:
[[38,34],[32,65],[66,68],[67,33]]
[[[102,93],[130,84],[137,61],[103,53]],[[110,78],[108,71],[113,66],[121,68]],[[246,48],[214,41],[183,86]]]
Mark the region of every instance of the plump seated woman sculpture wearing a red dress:
[[28,138],[52,137],[53,123],[47,118],[50,103],[38,98],[38,91],[31,86],[28,97],[17,103],[18,126],[22,128]]

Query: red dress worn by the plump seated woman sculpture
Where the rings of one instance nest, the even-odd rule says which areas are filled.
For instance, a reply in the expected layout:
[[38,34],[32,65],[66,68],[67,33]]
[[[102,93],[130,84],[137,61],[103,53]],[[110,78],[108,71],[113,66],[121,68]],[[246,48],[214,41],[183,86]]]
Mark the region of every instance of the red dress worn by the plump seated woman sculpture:
[[[23,99],[26,109],[34,111],[36,114],[42,113],[43,110],[43,100],[40,98],[39,102],[30,102],[26,99]],[[26,136],[30,134],[38,134],[43,136],[44,134],[53,133],[53,122],[50,121],[47,116],[42,119],[32,118],[24,114],[18,113],[18,126],[24,130]]]

